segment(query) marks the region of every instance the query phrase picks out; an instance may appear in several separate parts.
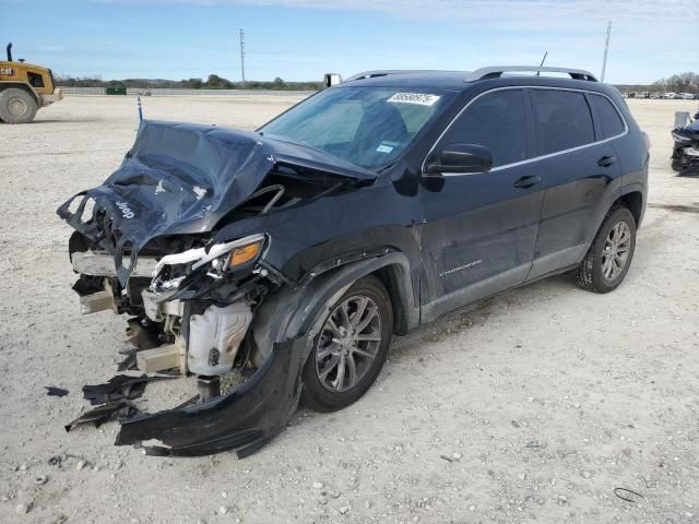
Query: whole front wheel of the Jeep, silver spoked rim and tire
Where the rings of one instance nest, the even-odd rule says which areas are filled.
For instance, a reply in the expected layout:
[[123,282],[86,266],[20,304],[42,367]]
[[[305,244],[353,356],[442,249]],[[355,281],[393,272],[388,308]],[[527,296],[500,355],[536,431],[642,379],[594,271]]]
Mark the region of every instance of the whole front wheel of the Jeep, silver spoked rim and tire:
[[334,412],[356,402],[379,376],[393,333],[391,300],[381,282],[357,281],[330,308],[304,367],[301,402]]

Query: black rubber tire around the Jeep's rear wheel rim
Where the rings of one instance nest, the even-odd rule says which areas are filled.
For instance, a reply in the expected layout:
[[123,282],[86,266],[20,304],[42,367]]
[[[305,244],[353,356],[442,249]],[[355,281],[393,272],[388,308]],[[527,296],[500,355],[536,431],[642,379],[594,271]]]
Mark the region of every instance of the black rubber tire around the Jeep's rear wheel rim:
[[[617,271],[618,265],[614,264],[616,274],[605,276],[606,265],[605,261],[608,259],[607,251],[605,251],[605,245],[607,243],[613,229],[624,224],[628,228],[630,238],[628,243],[628,254],[624,260],[624,264],[620,270]],[[624,227],[624,226],[619,226]],[[607,214],[607,217],[602,223],[597,235],[585,254],[582,262],[577,270],[573,271],[573,279],[578,287],[589,291],[595,293],[609,293],[618,287],[624,281],[624,277],[629,271],[631,261],[633,259],[633,251],[636,250],[636,219],[631,212],[626,207],[614,207]],[[615,251],[616,254],[616,251]],[[606,257],[606,259],[605,259]],[[616,258],[616,257],[615,257]]]

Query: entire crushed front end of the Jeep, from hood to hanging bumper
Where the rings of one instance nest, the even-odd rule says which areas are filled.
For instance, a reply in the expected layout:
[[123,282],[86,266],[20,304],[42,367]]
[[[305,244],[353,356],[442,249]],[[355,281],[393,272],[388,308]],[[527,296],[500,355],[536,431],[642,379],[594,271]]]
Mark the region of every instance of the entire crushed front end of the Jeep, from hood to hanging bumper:
[[58,210],[76,229],[69,252],[82,312],[129,315],[125,369],[197,378],[185,404],[126,417],[117,444],[245,456],[291,419],[312,331],[286,336],[285,326],[312,308],[298,293],[308,283],[269,260],[277,240],[298,247],[268,231],[369,178],[342,169],[252,133],[144,121],[121,168]]

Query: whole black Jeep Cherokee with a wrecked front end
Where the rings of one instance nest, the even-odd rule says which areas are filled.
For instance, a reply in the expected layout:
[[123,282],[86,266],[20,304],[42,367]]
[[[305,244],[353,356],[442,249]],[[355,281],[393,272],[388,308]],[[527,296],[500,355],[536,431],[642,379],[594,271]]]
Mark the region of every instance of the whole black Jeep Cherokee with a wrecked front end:
[[620,94],[557,68],[363,73],[256,132],[144,121],[58,210],[83,312],[131,315],[141,370],[199,378],[117,444],[245,456],[299,401],[359,398],[394,334],[549,275],[615,289],[648,163]]

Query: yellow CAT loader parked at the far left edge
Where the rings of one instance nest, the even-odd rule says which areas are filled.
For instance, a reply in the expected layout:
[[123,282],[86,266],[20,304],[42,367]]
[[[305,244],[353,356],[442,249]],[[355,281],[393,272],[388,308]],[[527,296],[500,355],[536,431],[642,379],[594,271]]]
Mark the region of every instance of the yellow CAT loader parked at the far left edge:
[[8,61],[0,60],[0,120],[26,123],[34,120],[39,107],[63,98],[48,68],[12,60],[12,43],[8,44]]

